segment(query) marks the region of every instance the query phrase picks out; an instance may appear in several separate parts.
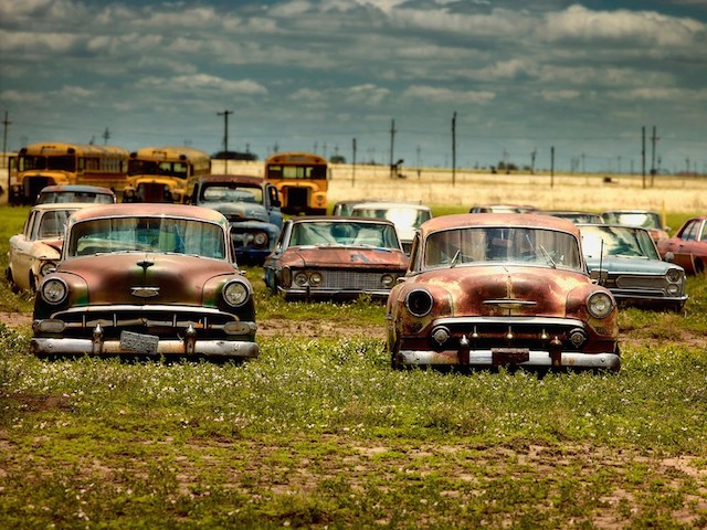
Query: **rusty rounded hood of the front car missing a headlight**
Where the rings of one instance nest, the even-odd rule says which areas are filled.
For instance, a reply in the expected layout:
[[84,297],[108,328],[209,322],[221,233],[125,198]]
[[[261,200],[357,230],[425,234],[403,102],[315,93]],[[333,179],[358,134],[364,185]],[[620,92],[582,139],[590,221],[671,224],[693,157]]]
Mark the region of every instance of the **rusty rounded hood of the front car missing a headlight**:
[[[593,288],[577,271],[513,265],[467,266],[430,271],[404,286],[424,285],[435,298],[446,298],[453,315],[546,315],[564,317],[572,292]],[[402,286],[401,286],[402,287]],[[584,295],[579,295],[583,301]]]

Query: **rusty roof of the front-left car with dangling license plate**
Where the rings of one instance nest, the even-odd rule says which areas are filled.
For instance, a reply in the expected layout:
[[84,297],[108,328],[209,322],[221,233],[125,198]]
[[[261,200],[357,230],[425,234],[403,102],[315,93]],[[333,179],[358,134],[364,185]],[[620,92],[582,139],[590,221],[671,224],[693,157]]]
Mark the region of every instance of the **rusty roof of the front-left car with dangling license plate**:
[[171,204],[163,202],[137,202],[117,204],[89,204],[89,208],[75,212],[75,222],[96,218],[122,218],[122,216],[175,216],[200,219],[222,223],[225,218],[222,213],[210,208],[194,206],[191,204]]

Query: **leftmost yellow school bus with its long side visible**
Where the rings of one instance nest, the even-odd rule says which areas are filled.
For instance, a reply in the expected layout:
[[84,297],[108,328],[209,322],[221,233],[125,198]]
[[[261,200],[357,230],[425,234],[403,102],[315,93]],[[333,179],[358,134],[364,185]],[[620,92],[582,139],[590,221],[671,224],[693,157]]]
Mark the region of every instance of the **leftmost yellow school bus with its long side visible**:
[[10,181],[10,203],[31,204],[45,186],[82,184],[123,192],[128,151],[81,144],[31,144],[18,152]]

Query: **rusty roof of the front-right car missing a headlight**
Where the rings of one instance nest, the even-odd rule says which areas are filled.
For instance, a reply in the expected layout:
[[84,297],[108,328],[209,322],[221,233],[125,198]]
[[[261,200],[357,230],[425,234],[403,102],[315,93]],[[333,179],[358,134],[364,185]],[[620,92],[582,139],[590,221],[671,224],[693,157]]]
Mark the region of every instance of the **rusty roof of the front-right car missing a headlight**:
[[579,236],[579,229],[574,223],[552,215],[527,213],[456,213],[441,215],[425,221],[420,230],[428,234],[440,230],[457,229],[464,226],[526,226],[538,229],[561,230]]

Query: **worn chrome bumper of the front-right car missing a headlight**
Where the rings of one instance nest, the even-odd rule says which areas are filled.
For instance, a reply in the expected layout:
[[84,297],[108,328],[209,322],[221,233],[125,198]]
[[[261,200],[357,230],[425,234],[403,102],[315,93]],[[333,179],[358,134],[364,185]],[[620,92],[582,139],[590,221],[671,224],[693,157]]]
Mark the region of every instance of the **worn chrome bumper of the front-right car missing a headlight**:
[[[402,365],[467,365],[460,360],[460,352],[454,350],[401,350],[399,361]],[[530,350],[528,360],[524,362],[498,363],[494,362],[492,350],[471,350],[468,352],[469,367],[517,365],[529,368],[589,368],[619,370],[621,358],[618,353],[580,353],[574,351],[562,352],[559,362],[553,363],[549,351]]]

